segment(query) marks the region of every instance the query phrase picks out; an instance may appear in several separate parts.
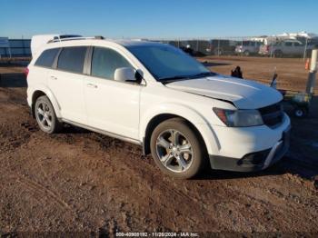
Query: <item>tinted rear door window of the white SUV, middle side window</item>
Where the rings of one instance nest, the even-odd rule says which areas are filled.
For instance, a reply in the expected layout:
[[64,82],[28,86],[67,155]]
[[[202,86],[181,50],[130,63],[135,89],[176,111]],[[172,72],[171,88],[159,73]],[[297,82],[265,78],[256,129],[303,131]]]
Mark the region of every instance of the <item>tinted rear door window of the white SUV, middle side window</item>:
[[63,48],[58,57],[57,68],[74,73],[83,73],[85,46]]

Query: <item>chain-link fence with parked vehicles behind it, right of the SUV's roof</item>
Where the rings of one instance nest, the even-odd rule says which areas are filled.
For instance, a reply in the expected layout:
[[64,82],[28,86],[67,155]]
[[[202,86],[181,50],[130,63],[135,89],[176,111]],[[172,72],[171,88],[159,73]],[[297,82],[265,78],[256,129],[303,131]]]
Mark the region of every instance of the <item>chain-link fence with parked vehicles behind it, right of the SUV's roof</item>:
[[[141,39],[142,40],[142,39]],[[147,39],[174,45],[194,56],[238,55],[307,58],[318,45],[317,38],[283,36],[236,36]]]

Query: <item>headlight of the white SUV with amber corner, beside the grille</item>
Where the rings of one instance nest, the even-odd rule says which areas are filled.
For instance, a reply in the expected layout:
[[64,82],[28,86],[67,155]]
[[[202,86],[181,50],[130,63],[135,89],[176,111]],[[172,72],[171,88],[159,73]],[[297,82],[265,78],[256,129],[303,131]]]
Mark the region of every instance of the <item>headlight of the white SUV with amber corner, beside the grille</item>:
[[224,124],[231,127],[263,124],[262,116],[257,110],[228,110],[214,107],[214,113]]

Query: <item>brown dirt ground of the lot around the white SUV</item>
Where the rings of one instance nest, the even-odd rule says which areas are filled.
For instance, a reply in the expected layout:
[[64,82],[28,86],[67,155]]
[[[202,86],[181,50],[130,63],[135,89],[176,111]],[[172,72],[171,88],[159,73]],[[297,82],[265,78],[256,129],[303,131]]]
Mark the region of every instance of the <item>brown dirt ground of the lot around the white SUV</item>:
[[[302,90],[303,62],[210,58],[215,72]],[[160,173],[141,148],[75,127],[42,133],[26,104],[22,67],[0,65],[0,235],[193,232],[318,233],[318,100],[292,119],[290,152],[253,174],[207,171],[194,180]],[[267,80],[267,81],[266,81]]]

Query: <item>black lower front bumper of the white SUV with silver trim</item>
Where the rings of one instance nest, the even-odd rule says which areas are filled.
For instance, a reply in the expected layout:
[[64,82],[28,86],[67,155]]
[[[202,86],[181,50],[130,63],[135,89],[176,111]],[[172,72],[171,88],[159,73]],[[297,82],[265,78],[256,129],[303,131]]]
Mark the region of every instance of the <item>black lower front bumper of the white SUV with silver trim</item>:
[[225,157],[220,155],[210,155],[210,164],[213,169],[237,171],[237,172],[254,172],[266,169],[272,164],[278,162],[289,149],[290,144],[289,126],[282,135],[282,138],[273,145],[272,148],[245,154],[241,159]]

